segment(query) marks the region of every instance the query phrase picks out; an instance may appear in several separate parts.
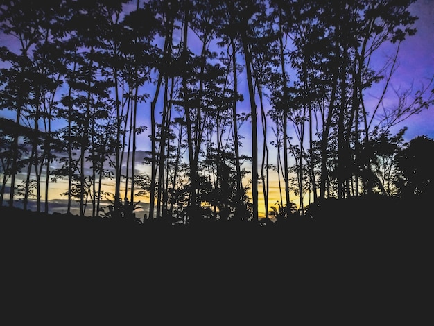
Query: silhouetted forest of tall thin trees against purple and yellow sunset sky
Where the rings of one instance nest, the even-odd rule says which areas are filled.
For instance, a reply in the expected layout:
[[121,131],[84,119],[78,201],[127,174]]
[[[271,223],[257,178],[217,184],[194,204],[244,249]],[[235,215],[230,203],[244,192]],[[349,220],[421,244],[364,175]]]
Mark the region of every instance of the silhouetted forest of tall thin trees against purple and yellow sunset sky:
[[410,213],[434,141],[403,123],[433,79],[385,94],[413,2],[3,1],[0,207],[48,213],[62,182],[67,214],[142,224]]

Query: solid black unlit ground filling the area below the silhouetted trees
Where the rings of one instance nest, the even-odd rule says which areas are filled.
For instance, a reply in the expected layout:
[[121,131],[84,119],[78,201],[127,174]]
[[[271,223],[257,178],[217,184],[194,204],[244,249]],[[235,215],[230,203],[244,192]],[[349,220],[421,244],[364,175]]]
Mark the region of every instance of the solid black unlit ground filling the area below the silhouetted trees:
[[422,325],[432,311],[433,214],[379,203],[330,201],[313,217],[263,227],[1,207],[3,312],[56,325],[129,316],[267,325],[300,315],[302,325]]

